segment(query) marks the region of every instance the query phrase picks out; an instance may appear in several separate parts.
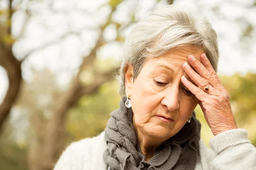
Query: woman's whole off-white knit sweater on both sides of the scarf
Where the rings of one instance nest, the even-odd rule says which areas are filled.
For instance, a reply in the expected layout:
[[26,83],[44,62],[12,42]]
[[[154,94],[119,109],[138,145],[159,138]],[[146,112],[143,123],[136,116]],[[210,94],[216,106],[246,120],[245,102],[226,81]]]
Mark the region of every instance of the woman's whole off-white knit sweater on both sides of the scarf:
[[[195,170],[256,170],[256,148],[247,139],[247,130],[228,130],[214,136],[209,149],[200,140]],[[104,132],[70,144],[54,170],[107,170],[103,152],[107,149]]]

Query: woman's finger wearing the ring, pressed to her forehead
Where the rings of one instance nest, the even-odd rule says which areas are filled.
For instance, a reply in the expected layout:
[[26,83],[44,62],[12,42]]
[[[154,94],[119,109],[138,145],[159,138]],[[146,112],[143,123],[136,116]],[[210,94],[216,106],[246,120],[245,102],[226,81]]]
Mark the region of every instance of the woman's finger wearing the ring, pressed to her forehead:
[[[188,63],[184,62],[183,64],[183,70],[186,72],[186,74],[192,79],[195,84],[198,85],[199,88],[204,90],[208,85],[209,82],[202,78],[199,74],[197,74],[189,65]],[[207,91],[208,94],[212,95],[215,94],[215,89],[209,85],[209,90]]]

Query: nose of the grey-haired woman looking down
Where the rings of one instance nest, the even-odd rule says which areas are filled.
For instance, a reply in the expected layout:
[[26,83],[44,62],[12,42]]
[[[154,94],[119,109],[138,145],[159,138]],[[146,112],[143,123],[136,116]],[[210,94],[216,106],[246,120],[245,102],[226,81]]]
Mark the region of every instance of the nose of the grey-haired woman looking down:
[[161,104],[166,106],[169,111],[175,111],[180,108],[179,87],[170,87],[163,92]]

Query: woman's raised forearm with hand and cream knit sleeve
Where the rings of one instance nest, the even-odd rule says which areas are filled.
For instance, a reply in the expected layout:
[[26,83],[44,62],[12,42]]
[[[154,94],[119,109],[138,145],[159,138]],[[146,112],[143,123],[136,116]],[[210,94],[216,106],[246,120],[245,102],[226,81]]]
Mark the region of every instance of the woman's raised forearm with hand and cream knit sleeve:
[[215,152],[213,157],[201,156],[202,165],[209,166],[204,169],[256,170],[256,149],[247,139],[247,131],[238,129],[229,94],[221,85],[209,59],[202,54],[200,61],[192,55],[189,55],[188,60],[197,72],[185,63],[183,69],[197,86],[186,77],[182,77],[181,81],[198,98],[198,104],[215,136],[209,143]]

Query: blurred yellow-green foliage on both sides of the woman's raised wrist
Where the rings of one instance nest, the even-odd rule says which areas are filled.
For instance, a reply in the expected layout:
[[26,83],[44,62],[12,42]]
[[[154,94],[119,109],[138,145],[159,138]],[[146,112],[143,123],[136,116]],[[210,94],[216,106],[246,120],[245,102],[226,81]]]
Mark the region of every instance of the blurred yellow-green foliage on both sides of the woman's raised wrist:
[[[230,95],[238,127],[248,130],[248,138],[256,146],[256,74],[248,73],[245,76],[234,74],[231,77],[222,76],[220,79]],[[195,112],[202,124],[201,138],[208,145],[209,139],[213,137],[212,131],[199,105]]]

